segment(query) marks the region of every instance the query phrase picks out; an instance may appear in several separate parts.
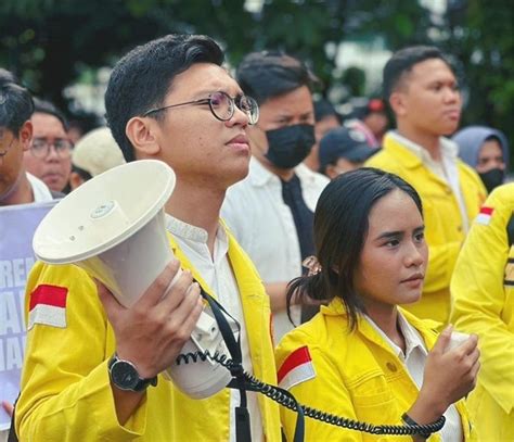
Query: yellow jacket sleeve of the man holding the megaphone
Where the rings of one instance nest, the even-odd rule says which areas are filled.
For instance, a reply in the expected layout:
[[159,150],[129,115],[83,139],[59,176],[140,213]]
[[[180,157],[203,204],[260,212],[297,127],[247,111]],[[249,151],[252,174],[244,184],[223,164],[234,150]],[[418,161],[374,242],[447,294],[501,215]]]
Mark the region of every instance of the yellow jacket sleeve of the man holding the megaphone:
[[75,266],[37,263],[27,283],[27,311],[40,285],[67,289],[66,324],[35,324],[27,332],[16,406],[20,440],[131,441],[143,434],[145,400],[125,426],[117,421],[106,362],[114,336],[93,281]]

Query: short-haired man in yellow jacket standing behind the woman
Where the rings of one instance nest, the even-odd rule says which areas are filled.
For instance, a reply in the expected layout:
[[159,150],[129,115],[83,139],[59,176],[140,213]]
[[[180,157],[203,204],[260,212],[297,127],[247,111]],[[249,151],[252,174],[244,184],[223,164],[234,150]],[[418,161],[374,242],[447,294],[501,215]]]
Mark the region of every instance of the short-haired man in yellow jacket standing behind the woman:
[[397,129],[386,135],[382,151],[365,165],[399,175],[416,189],[431,250],[423,296],[404,308],[447,323],[457,256],[486,197],[480,178],[458,159],[457,146],[444,137],[459,125],[457,79],[437,48],[411,47],[387,62],[383,89]]

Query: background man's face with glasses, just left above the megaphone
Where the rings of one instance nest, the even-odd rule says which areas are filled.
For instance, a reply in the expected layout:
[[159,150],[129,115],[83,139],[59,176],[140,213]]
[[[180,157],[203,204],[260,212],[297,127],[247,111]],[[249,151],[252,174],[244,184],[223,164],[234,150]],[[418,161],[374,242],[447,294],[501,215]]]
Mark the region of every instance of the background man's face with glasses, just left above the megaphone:
[[72,173],[72,148],[63,114],[50,102],[35,99],[34,137],[25,152],[29,173],[55,192],[66,191]]

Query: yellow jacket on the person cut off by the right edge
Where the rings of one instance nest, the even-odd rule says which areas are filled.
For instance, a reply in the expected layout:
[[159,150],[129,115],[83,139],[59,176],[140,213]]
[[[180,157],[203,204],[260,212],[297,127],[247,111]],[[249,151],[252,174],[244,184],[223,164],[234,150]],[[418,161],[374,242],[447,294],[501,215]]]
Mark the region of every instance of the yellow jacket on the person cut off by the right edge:
[[477,333],[481,367],[470,395],[480,441],[514,441],[514,247],[506,225],[514,213],[514,184],[494,190],[462,248],[451,280],[451,320]]

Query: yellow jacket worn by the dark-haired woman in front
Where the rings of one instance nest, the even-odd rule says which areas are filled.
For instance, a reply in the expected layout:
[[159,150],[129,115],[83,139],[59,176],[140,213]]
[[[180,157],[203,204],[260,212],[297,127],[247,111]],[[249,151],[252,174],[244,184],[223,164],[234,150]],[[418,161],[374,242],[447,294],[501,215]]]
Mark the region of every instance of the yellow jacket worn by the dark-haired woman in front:
[[[422,320],[401,311],[417,329],[427,349],[432,349],[437,333],[436,323]],[[290,391],[304,405],[337,416],[375,425],[403,425],[401,415],[417,399],[417,387],[403,363],[378,332],[362,317],[357,329],[348,332],[348,318],[340,300],[322,306],[310,321],[288,332],[275,349],[277,367],[295,350],[307,345],[316,377],[297,383]],[[462,401],[455,404],[462,418],[465,440],[470,434],[467,412]],[[296,414],[281,408],[282,426],[288,441],[293,440]],[[399,441],[398,435],[373,435],[346,430],[306,418],[306,441]],[[440,441],[439,434],[429,439]]]

